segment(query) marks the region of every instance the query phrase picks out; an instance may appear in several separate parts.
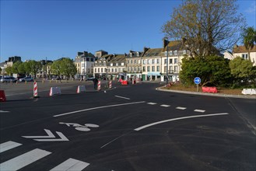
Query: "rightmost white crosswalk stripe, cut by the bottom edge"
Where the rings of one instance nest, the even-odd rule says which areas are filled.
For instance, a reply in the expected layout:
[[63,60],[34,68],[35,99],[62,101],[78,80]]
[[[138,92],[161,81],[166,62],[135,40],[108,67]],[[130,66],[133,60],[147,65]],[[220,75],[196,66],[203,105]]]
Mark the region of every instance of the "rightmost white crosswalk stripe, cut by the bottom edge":
[[65,162],[62,162],[60,165],[54,167],[50,171],[71,171],[71,170],[82,170],[89,166],[88,162],[82,162],[76,159],[67,159]]

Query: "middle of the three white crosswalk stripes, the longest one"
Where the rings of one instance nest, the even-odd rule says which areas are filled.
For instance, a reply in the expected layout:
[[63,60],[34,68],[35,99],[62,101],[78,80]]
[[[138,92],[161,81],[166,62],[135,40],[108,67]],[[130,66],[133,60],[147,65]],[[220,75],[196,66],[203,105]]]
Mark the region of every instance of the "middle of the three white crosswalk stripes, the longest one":
[[2,162],[0,164],[0,170],[18,170],[50,154],[51,152],[36,148],[30,152],[24,153],[23,155],[19,155],[16,158]]

